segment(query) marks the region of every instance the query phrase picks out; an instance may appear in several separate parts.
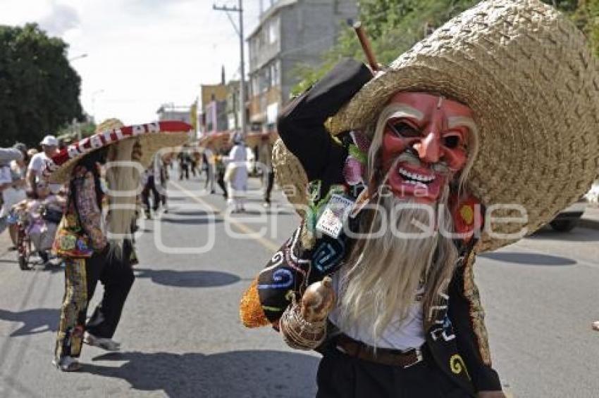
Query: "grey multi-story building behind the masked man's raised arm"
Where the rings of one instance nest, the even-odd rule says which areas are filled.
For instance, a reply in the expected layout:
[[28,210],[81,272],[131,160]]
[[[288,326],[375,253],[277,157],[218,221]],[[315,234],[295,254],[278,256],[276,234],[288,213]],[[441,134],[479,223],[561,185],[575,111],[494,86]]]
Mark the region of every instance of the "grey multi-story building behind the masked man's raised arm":
[[357,15],[356,0],[261,0],[259,25],[249,44],[249,123],[252,131],[275,132],[300,64],[317,66],[343,24]]

